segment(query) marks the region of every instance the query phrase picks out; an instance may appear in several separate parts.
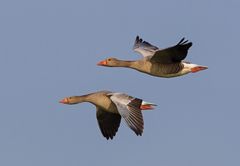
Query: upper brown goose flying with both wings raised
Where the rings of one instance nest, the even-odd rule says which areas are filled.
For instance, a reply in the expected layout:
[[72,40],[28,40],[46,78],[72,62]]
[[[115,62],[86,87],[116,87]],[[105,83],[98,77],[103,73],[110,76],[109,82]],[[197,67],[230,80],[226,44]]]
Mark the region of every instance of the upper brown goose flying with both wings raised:
[[183,61],[192,42],[182,38],[176,45],[159,49],[158,47],[136,37],[133,50],[140,53],[143,58],[136,61],[125,61],[117,58],[107,58],[97,63],[106,67],[126,67],[156,77],[178,77],[188,73],[196,73],[205,70],[207,66],[201,66]]

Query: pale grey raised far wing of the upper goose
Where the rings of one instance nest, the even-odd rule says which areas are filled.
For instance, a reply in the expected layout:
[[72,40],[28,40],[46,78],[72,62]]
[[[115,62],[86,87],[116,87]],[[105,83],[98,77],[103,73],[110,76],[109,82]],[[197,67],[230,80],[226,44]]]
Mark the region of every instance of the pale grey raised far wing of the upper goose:
[[142,54],[144,57],[147,57],[154,55],[159,48],[146,41],[143,41],[141,38],[139,38],[139,36],[137,36],[133,50]]

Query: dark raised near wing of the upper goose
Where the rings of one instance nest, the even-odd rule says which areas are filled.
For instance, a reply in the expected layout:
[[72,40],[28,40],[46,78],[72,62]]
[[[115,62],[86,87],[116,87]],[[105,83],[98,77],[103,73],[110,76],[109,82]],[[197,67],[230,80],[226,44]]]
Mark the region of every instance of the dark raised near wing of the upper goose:
[[192,42],[188,42],[188,40],[182,38],[175,46],[156,51],[150,60],[162,64],[181,62],[186,58],[188,49],[191,46]]

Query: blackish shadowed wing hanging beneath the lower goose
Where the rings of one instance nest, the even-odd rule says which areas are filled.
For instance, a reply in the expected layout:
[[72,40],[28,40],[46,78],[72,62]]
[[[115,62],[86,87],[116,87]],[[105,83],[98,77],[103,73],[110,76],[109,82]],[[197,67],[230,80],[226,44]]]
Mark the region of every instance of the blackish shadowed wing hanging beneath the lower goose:
[[102,135],[107,139],[113,139],[120,126],[121,116],[119,114],[106,112],[97,107],[97,120]]

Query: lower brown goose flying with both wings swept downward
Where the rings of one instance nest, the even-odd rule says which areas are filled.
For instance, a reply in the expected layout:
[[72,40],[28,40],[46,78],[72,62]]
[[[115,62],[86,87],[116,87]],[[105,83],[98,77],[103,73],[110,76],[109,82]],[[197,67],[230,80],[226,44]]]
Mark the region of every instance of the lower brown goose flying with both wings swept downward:
[[111,91],[98,91],[82,96],[66,97],[59,102],[63,104],[89,102],[95,105],[99,128],[107,140],[113,139],[116,135],[121,117],[137,136],[141,136],[144,125],[141,110],[151,110],[156,106],[125,93]]

